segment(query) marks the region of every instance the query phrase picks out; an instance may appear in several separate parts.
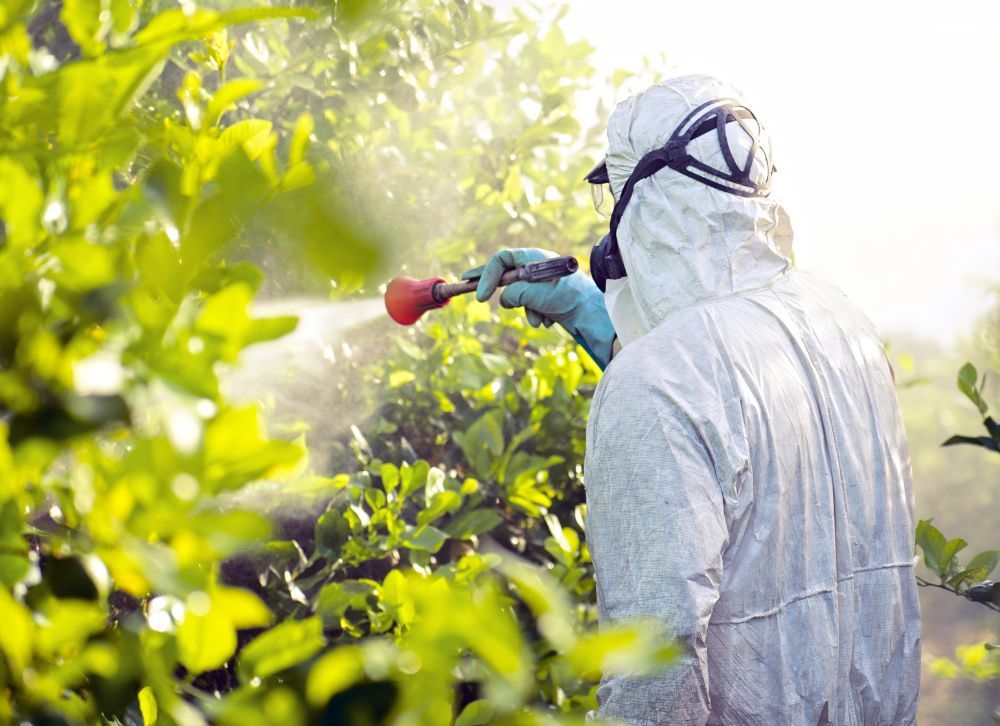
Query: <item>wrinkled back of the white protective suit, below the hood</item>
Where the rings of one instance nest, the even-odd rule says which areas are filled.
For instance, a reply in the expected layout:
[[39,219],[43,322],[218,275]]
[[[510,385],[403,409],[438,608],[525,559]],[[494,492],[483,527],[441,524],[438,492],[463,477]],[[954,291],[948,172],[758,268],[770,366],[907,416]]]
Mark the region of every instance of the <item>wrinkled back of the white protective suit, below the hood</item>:
[[[660,400],[686,401],[707,460],[730,477],[718,482],[728,538],[708,623],[709,723],[912,720],[909,471],[887,451],[905,448],[902,427],[881,344],[858,316],[836,291],[793,273],[671,316],[623,356],[641,364],[615,364],[629,369],[618,386],[634,386],[647,366],[642,378],[665,389]],[[684,366],[693,377],[678,373]],[[708,401],[707,390],[734,391],[736,405]],[[899,608],[887,613],[872,592],[892,593]],[[884,632],[898,637],[858,635],[887,617]]]

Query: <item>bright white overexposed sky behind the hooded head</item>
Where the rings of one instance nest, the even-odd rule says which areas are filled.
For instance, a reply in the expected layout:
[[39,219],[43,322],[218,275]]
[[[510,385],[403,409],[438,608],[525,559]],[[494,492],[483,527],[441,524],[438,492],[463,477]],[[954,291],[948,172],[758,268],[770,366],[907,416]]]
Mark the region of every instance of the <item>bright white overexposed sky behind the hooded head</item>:
[[662,54],[665,75],[741,88],[773,140],[799,268],[839,285],[883,335],[952,343],[989,309],[1000,286],[996,0],[574,0],[562,27],[602,67]]

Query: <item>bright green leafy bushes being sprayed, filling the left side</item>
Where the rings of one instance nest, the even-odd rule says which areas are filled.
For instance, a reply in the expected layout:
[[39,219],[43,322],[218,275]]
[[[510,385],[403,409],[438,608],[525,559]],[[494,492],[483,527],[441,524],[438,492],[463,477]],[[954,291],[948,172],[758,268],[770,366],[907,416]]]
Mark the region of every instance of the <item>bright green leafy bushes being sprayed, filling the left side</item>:
[[[554,333],[400,337],[348,474],[219,388],[295,326],[259,266],[592,236],[585,44],[462,0],[13,2],[0,44],[0,720],[573,723],[676,655],[592,627],[599,371]],[[301,541],[220,496],[282,476],[326,493]]]

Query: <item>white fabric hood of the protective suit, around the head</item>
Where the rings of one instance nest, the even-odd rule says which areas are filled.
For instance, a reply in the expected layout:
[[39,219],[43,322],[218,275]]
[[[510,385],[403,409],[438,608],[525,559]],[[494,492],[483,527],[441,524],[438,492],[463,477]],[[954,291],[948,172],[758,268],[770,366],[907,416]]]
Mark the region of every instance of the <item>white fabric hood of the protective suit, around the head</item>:
[[[619,104],[608,121],[606,159],[616,198],[645,154],[666,144],[692,110],[719,98],[743,103],[732,86],[690,75]],[[749,137],[730,138],[734,155],[745,160]],[[715,134],[695,139],[691,153],[726,168]],[[766,174],[766,163],[758,153],[752,171]],[[606,302],[623,345],[679,309],[766,286],[790,267],[790,227],[773,196],[740,197],[669,168],[636,185],[618,242],[628,277],[609,281]]]

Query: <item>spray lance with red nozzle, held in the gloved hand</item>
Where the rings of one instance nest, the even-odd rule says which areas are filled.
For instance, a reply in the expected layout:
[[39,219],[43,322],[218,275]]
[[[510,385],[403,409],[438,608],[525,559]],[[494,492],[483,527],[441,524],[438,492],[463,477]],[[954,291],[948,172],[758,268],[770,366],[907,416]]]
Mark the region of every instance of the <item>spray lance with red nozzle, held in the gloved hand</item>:
[[[546,282],[572,275],[579,269],[575,257],[553,257],[549,260],[531,262],[523,267],[507,270],[500,278],[500,286],[512,282]],[[479,278],[463,282],[445,282],[443,278],[431,277],[414,280],[412,277],[397,277],[385,290],[385,309],[389,317],[400,325],[413,325],[425,312],[443,308],[456,295],[474,292]]]

